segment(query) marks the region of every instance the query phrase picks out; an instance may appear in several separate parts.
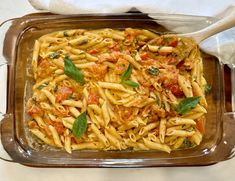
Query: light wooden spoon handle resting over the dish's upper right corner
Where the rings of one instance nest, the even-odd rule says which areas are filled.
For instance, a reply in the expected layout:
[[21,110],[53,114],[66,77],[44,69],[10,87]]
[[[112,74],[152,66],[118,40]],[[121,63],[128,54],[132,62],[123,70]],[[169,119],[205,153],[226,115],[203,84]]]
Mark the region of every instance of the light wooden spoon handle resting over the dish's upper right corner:
[[182,34],[180,36],[192,37],[197,43],[205,40],[206,38],[215,35],[221,31],[227,30],[235,26],[235,7],[224,18],[215,22],[214,24],[193,33]]

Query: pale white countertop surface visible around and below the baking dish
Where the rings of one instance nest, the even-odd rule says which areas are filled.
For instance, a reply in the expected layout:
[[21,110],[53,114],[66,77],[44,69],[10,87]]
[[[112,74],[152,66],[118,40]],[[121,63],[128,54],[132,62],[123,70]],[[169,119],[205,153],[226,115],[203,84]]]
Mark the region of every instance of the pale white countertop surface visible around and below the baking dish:
[[[26,0],[1,0],[0,23],[4,20],[36,12]],[[4,82],[3,69],[0,69],[0,82]],[[0,86],[2,88],[2,85]],[[1,89],[0,89],[1,90]],[[3,97],[0,91],[0,98]],[[0,101],[0,108],[3,107]],[[1,146],[0,146],[1,147]],[[0,156],[6,156],[0,149]],[[190,181],[232,181],[235,159],[206,167],[170,168],[30,168],[0,160],[0,181],[66,181],[66,180],[190,180]]]

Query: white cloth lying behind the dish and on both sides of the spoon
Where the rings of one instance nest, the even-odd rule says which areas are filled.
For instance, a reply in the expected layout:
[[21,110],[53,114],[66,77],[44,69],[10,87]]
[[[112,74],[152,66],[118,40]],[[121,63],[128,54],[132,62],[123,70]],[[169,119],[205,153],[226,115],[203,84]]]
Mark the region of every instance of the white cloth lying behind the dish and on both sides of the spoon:
[[[29,0],[29,2],[36,9],[58,14],[122,13],[135,8],[143,13],[186,14],[218,18],[223,18],[228,7],[235,6],[235,0]],[[193,26],[197,26],[186,27],[182,24],[174,24],[172,21],[161,22],[161,24],[178,33],[187,28],[195,29]],[[200,47],[217,56],[220,61],[229,64],[230,67],[234,66],[235,28],[208,38],[200,44]]]

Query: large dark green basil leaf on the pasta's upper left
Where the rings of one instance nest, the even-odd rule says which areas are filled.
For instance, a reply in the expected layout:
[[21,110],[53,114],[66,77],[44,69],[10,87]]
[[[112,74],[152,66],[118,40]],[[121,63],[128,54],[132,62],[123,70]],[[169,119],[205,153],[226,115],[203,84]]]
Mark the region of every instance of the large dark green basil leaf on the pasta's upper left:
[[74,65],[74,63],[69,59],[69,57],[64,58],[64,73],[65,75],[79,82],[81,85],[85,83],[84,75]]

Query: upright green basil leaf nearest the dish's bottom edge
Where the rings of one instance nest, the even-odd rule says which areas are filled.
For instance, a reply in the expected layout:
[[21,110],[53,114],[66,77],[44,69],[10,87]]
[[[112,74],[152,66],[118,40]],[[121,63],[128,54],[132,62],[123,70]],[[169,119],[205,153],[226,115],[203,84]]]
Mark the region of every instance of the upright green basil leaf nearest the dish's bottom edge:
[[73,123],[73,134],[76,138],[81,138],[87,128],[86,112],[81,113]]

